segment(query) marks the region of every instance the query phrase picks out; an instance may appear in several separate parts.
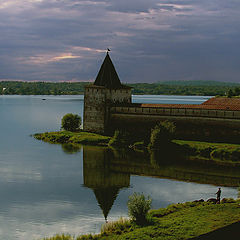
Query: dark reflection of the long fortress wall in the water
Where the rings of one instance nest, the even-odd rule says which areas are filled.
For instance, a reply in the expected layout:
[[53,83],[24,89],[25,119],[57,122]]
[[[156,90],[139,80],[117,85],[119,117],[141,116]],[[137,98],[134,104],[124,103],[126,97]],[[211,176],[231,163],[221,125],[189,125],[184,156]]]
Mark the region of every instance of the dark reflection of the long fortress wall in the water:
[[129,173],[131,175],[155,176],[182,181],[214,184],[220,186],[239,186],[240,169],[231,166],[220,166],[214,163],[186,161],[184,159],[169,159],[152,153],[149,157],[144,154],[121,154],[114,152],[111,170]]

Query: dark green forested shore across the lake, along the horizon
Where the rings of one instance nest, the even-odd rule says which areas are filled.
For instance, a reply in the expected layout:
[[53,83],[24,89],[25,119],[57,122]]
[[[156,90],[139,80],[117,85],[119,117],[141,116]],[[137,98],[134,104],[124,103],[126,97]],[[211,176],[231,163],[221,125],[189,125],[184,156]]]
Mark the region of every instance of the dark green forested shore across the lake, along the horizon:
[[[79,95],[90,82],[1,81],[2,95]],[[127,84],[133,94],[239,96],[240,84],[216,81],[169,81]]]

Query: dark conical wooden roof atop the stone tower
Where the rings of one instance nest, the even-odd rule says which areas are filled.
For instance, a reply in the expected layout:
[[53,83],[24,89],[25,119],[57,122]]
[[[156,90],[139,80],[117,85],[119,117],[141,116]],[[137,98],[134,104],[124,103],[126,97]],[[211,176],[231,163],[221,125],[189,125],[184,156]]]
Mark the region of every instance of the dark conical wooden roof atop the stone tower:
[[103,86],[109,89],[123,88],[108,53],[102,63],[102,66],[98,72],[98,75],[93,85]]

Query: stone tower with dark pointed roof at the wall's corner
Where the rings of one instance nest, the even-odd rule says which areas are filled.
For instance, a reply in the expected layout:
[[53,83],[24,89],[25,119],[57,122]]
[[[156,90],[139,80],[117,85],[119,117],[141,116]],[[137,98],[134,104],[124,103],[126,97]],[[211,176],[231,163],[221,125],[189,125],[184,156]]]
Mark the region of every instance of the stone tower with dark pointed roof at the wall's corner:
[[83,130],[106,134],[110,124],[109,108],[131,101],[131,88],[120,82],[107,52],[95,82],[85,87]]

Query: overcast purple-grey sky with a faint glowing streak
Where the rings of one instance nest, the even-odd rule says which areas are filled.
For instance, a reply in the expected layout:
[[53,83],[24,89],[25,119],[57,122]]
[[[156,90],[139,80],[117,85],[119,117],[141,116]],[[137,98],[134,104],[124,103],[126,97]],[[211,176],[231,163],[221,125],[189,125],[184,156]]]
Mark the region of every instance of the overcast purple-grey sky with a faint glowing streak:
[[0,80],[240,82],[239,0],[0,0]]

